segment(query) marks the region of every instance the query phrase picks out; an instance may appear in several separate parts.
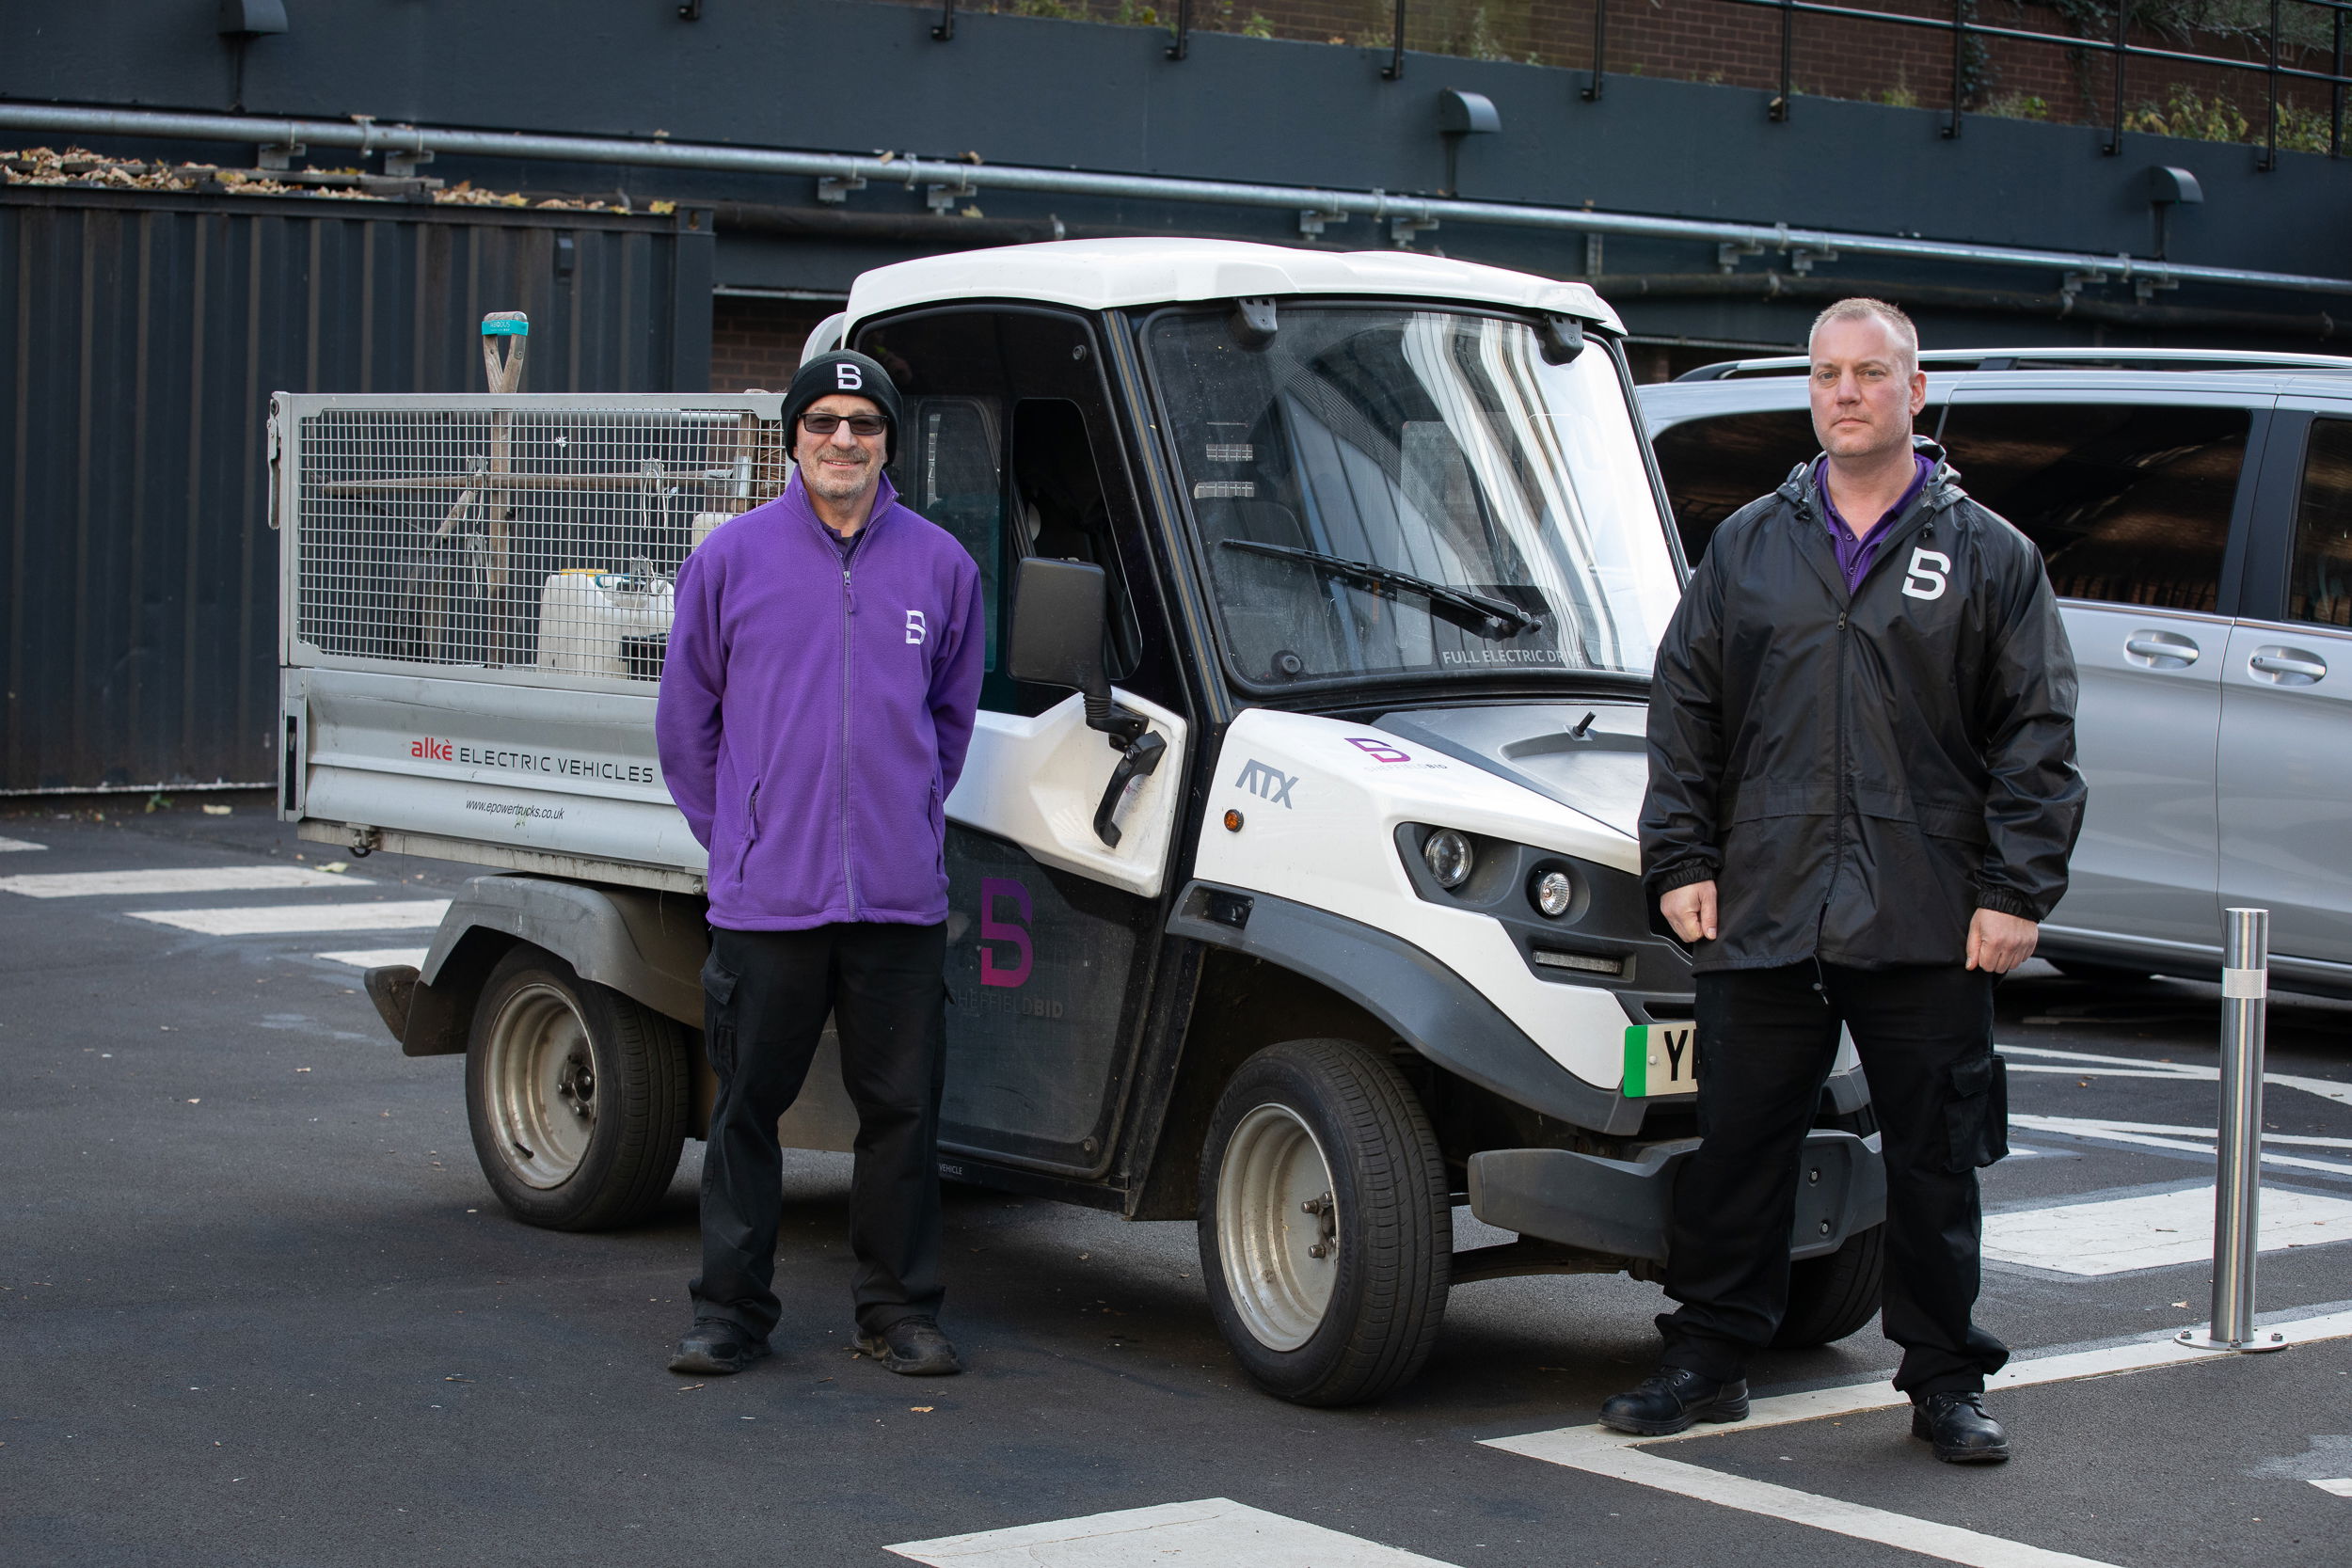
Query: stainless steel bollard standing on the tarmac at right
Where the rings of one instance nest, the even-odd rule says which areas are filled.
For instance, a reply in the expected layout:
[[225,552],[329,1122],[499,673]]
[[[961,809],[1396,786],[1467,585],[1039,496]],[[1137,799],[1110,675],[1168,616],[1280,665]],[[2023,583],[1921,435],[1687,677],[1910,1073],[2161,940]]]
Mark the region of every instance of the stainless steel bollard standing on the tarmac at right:
[[2270,910],[2223,912],[2220,1124],[2213,1180],[2213,1321],[2185,1331],[2201,1349],[2284,1349],[2253,1328],[2263,1211],[2263,1032],[2270,1016]]

